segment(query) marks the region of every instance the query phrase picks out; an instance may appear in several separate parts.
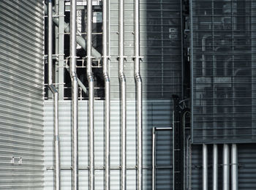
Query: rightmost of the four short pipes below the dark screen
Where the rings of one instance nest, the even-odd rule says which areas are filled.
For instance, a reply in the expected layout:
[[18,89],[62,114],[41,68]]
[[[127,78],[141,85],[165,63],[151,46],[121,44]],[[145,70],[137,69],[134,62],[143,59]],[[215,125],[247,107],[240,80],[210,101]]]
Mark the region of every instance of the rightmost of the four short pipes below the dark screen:
[[238,150],[236,144],[232,144],[231,148],[231,184],[232,190],[238,190]]

